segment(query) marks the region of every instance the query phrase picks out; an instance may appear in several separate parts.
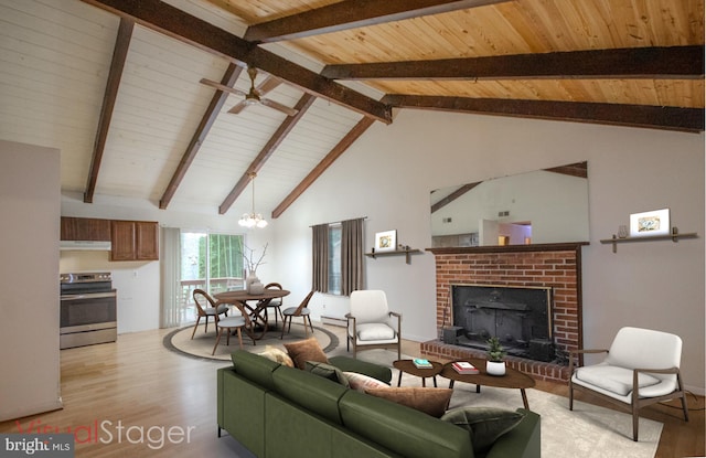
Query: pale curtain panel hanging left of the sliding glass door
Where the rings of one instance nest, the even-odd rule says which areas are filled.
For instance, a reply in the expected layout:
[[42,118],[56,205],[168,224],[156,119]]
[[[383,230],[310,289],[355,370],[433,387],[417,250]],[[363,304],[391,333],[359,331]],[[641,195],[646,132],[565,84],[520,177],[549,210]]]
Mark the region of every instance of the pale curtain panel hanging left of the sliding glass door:
[[162,227],[162,312],[161,328],[174,328],[181,323],[181,231]]

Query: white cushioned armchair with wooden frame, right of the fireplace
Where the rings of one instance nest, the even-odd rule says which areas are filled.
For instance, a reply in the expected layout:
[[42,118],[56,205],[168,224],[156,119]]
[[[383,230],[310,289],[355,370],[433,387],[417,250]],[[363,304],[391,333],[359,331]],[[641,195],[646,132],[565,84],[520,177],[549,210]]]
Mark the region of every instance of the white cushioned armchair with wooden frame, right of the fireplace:
[[[580,354],[608,353],[593,365],[575,365]],[[622,328],[610,350],[569,352],[569,409],[574,409],[574,391],[581,390],[625,407],[632,413],[632,439],[638,440],[640,408],[657,402],[681,398],[684,420],[688,422],[686,392],[682,384],[678,335],[640,328]],[[580,359],[582,361],[582,358]]]

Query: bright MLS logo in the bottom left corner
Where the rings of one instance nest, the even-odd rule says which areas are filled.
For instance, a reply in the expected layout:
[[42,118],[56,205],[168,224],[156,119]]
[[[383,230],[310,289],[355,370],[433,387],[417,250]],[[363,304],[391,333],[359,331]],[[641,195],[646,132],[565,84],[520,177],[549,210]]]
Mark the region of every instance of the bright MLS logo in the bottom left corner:
[[73,434],[0,434],[0,458],[74,458]]

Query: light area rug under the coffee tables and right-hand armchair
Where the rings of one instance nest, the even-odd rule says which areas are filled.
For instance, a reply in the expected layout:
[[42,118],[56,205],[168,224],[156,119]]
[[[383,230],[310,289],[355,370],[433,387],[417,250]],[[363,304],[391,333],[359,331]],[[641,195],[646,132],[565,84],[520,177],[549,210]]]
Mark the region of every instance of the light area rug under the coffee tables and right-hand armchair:
[[[331,354],[345,354],[345,347]],[[392,366],[397,353],[388,350],[366,350],[357,354],[360,360]],[[403,359],[409,358],[403,355]],[[393,384],[399,372],[393,369]],[[437,377],[438,386],[447,387],[448,381]],[[403,373],[402,386],[421,386],[421,380]],[[427,380],[429,386],[429,380]],[[530,409],[542,415],[543,458],[653,458],[660,444],[662,423],[640,418],[640,440],[632,440],[632,416],[610,408],[574,401],[569,411],[568,398],[539,390],[527,390]],[[475,385],[456,382],[450,408],[460,406],[522,407],[520,390],[483,386],[475,393]]]

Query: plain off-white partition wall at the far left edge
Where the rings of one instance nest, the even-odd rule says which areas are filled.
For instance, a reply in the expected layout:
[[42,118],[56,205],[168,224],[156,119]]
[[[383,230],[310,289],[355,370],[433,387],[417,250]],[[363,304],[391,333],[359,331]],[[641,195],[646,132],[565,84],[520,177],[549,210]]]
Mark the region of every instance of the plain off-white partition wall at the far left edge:
[[57,149],[0,140],[0,422],[62,407]]

